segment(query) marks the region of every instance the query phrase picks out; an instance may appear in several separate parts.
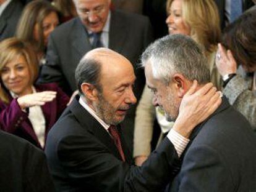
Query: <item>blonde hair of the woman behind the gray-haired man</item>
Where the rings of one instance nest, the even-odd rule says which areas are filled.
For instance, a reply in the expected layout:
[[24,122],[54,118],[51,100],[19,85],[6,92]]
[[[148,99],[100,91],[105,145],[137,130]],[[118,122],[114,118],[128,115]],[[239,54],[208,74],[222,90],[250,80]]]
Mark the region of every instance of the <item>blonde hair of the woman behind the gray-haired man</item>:
[[[167,12],[174,0],[168,0]],[[203,46],[206,55],[220,42],[220,17],[213,0],[182,0],[182,18],[191,29],[190,36]]]

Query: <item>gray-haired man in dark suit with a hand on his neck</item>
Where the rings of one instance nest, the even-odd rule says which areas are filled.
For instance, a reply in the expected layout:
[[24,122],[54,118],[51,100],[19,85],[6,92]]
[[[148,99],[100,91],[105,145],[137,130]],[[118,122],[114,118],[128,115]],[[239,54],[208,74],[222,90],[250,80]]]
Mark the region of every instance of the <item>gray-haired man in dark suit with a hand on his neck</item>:
[[[179,115],[182,97],[193,79],[197,79],[198,88],[210,81],[203,51],[188,36],[159,39],[145,50],[142,63],[147,85],[168,119]],[[256,137],[226,97],[189,138],[181,170],[169,191],[255,191]]]

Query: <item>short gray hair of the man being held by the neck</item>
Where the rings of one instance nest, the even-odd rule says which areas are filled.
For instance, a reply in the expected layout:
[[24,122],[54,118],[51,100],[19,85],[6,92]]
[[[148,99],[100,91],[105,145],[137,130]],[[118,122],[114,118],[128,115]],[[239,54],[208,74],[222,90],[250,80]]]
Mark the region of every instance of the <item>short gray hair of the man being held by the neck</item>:
[[173,34],[153,42],[142,54],[142,66],[150,60],[153,76],[169,83],[174,73],[181,73],[199,84],[210,82],[210,69],[202,49],[189,36]]

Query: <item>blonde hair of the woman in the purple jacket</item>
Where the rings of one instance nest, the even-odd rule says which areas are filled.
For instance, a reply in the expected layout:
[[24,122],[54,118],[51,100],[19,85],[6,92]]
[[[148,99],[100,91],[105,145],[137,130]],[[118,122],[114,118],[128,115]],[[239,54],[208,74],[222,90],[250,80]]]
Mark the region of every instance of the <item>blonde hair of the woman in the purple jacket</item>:
[[[32,85],[38,76],[38,59],[30,44],[17,38],[9,38],[0,42],[0,76],[2,68],[20,56],[23,56],[27,62],[30,72],[30,84]],[[2,79],[0,79],[0,82],[0,99],[5,103],[9,103],[8,90],[2,84]]]

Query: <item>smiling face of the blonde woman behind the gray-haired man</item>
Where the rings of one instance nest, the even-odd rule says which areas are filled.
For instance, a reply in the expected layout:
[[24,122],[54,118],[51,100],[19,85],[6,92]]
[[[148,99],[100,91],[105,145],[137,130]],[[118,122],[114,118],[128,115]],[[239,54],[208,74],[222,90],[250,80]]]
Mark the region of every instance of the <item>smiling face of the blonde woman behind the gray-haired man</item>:
[[182,0],[174,0],[169,7],[169,16],[166,18],[169,34],[190,34],[190,28],[182,18]]

